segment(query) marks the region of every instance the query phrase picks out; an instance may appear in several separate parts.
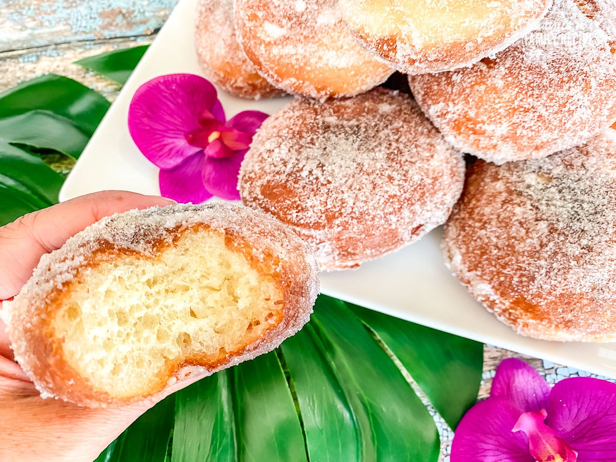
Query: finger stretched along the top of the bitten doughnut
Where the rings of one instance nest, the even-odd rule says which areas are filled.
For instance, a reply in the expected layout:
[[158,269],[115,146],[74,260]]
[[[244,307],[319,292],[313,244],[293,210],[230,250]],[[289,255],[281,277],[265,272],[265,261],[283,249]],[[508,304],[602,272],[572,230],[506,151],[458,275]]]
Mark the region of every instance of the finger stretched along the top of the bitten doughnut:
[[18,293],[43,254],[60,248],[69,237],[102,217],[170,203],[174,201],[137,193],[104,191],[27,214],[1,227],[0,300]]

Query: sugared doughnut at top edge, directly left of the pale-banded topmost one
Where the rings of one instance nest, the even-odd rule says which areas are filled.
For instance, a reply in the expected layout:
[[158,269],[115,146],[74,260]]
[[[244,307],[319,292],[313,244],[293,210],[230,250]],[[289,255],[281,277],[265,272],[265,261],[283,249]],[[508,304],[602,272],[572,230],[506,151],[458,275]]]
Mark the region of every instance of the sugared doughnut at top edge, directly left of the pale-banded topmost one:
[[235,28],[259,73],[293,94],[352,96],[394,71],[357,44],[337,0],[236,0]]

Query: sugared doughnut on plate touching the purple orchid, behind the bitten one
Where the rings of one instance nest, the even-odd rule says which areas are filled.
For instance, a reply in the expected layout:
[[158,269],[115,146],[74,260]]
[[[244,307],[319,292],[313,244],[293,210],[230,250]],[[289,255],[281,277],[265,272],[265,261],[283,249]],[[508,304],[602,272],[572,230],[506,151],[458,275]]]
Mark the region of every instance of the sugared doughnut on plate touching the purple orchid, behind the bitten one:
[[407,95],[384,89],[267,119],[241,164],[244,203],[289,224],[322,269],[357,267],[447,219],[464,160]]

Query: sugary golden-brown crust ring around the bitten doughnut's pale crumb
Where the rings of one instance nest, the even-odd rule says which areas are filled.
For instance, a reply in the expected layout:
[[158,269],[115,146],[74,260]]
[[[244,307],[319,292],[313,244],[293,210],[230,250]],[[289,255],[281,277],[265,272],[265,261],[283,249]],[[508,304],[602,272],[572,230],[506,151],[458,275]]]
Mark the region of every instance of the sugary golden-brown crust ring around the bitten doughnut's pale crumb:
[[[161,223],[177,219],[177,225],[167,229],[161,229],[160,225],[137,225],[132,234],[131,230],[126,230],[122,237],[110,240],[107,232],[115,226],[113,222],[125,224],[126,220],[120,220],[121,215],[103,219],[71,238],[59,251],[44,257],[33,278],[7,308],[15,358],[42,395],[89,407],[124,405],[146,399],[164,393],[169,387],[177,387],[177,381],[190,380],[195,374],[211,375],[270,351],[307,322],[318,290],[314,257],[292,232],[271,217],[248,213],[240,206],[222,204],[177,205],[131,211],[130,214],[133,215],[131,220],[144,221],[148,220],[148,214],[150,217],[159,214],[164,219]],[[216,218],[211,219],[211,216]],[[87,269],[95,269],[102,262],[118,261],[127,255],[156,261],[184,233],[213,229],[224,233],[228,249],[243,254],[253,269],[280,288],[283,300],[274,301],[277,309],[269,317],[270,326],[264,326],[261,332],[249,328],[235,351],[221,350],[218,355],[208,356],[197,352],[168,361],[158,372],[156,385],[142,396],[119,399],[101,392],[82,378],[65,360],[63,338],[54,331],[55,315],[63,301],[70,298],[73,287],[79,286],[81,274]],[[107,235],[99,237],[105,233]],[[136,246],[131,245],[133,240],[138,242]],[[66,267],[58,270],[62,265]]]

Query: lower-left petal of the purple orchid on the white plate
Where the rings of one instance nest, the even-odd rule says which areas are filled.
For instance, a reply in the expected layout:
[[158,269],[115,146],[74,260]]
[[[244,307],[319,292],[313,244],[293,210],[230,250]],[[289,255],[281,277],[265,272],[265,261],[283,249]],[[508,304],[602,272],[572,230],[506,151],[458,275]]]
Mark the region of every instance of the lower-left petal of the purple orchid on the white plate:
[[160,193],[180,203],[192,202],[200,204],[212,197],[203,185],[201,172],[205,156],[197,153],[176,168],[161,170],[158,175]]

